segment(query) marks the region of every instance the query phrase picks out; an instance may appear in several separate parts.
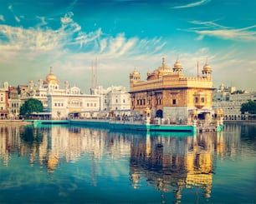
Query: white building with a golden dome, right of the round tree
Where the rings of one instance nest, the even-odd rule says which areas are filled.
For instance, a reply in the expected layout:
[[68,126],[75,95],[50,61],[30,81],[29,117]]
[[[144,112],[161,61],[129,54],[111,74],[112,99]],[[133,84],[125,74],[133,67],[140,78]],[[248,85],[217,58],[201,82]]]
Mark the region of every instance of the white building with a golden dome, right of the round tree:
[[29,97],[43,102],[44,112],[49,112],[52,119],[69,117],[72,112],[96,112],[100,110],[100,97],[81,92],[79,87],[69,87],[69,82],[64,82],[60,88],[59,80],[50,68],[45,80],[39,79],[38,83],[29,82],[28,94],[21,99]]

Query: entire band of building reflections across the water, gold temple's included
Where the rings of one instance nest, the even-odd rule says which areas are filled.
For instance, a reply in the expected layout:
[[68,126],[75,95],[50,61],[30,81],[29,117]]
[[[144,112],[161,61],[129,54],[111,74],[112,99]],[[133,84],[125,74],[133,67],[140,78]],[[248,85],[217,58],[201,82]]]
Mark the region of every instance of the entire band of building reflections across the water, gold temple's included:
[[[83,155],[90,155],[90,181],[96,187],[97,162],[103,157],[115,161],[128,157],[130,183],[135,191],[146,181],[148,187],[161,192],[161,202],[165,200],[165,193],[172,193],[174,203],[181,202],[185,189],[195,189],[197,200],[204,197],[207,201],[212,197],[217,157],[234,159],[237,154],[246,153],[242,151],[243,146],[247,147],[248,154],[255,154],[255,129],[229,125],[225,127],[225,134],[203,132],[192,136],[179,132],[163,135],[0,124],[0,164],[3,160],[3,165],[8,167],[13,155],[18,155],[28,158],[31,167],[38,166],[52,174],[59,165],[78,162]],[[249,137],[243,140],[243,134]]]

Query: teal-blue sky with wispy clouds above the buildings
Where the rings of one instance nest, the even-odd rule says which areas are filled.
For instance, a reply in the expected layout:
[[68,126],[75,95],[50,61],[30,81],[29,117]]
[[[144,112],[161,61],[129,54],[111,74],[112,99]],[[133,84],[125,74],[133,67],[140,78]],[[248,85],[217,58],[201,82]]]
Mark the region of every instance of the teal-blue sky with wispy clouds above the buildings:
[[[256,91],[253,0],[1,0],[0,83],[125,86],[178,60],[187,77],[207,62],[213,86]],[[95,69],[97,67],[97,71]],[[94,77],[92,77],[94,76]]]

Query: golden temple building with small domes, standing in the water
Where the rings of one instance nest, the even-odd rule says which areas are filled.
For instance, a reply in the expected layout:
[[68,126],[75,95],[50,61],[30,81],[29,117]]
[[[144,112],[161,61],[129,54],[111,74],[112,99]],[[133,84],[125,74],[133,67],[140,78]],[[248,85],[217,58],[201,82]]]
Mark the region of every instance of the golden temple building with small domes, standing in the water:
[[141,81],[136,70],[130,74],[131,110],[142,114],[148,107],[152,117],[168,117],[165,109],[173,112],[179,108],[184,112],[182,118],[187,119],[192,110],[211,109],[212,90],[212,70],[207,63],[197,77],[185,77],[180,62],[170,69],[164,58],[161,67],[147,73],[146,81]]

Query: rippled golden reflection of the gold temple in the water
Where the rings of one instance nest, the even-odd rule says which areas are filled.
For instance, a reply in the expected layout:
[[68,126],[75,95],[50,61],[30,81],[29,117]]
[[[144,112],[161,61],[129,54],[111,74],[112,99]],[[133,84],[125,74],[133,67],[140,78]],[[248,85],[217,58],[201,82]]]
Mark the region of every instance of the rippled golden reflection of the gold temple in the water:
[[131,147],[131,181],[140,187],[141,177],[158,191],[182,198],[182,188],[200,187],[204,197],[211,196],[212,151],[216,134],[204,133],[191,137],[137,138]]

